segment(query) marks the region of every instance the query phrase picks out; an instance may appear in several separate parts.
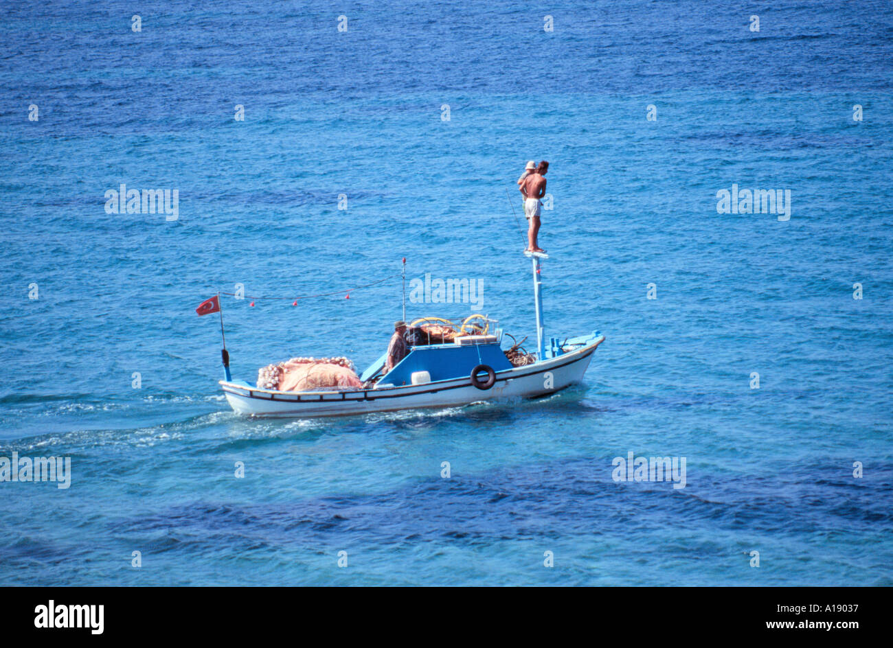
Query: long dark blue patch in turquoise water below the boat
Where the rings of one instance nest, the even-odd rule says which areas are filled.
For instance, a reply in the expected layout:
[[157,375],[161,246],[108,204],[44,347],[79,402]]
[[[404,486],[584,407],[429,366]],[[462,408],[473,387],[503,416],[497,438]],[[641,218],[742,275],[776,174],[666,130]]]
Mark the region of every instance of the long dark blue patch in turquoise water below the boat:
[[[445,538],[488,544],[583,534],[636,536],[659,524],[669,536],[692,526],[734,532],[756,528],[773,536],[844,533],[858,538],[893,527],[886,478],[854,485],[838,476],[814,478],[784,470],[773,477],[711,476],[689,467],[689,485],[613,483],[610,458],[575,458],[487,475],[432,478],[396,492],[324,497],[272,505],[196,502],[119,519],[110,532],[137,538],[168,529],[207,542],[267,541],[328,546],[360,541],[377,545]],[[877,470],[877,469],[876,469]],[[165,545],[165,551],[176,545]]]

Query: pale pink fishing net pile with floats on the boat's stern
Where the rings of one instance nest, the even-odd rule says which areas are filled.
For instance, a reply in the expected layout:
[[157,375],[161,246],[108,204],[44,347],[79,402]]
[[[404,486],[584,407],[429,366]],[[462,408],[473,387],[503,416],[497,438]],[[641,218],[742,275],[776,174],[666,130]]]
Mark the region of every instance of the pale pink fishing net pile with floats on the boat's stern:
[[363,386],[347,358],[292,358],[257,372],[257,386],[280,392],[312,392]]

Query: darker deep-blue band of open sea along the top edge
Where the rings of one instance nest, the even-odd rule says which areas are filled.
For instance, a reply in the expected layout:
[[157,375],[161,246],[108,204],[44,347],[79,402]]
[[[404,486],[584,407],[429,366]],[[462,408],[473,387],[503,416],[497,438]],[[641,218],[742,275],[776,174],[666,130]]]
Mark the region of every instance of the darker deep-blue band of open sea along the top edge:
[[[530,91],[544,94],[569,85],[594,92],[745,90],[755,83],[764,90],[829,89],[841,87],[839,75],[816,74],[815,67],[843,67],[860,58],[850,79],[864,89],[889,88],[890,10],[880,1],[861,4],[858,16],[838,2],[764,12],[759,33],[747,29],[749,13],[734,3],[712,4],[707,13],[701,4],[682,3],[669,18],[665,6],[647,2],[622,11],[567,4],[553,10],[553,33],[543,31],[536,12],[505,3],[473,12],[433,4],[423,14],[402,2],[374,12],[355,6],[348,12],[353,28],[346,33],[338,33],[337,16],[322,4],[277,21],[249,8],[208,14],[166,4],[146,12],[140,34],[129,31],[129,21],[121,18],[125,12],[114,5],[98,21],[82,10],[75,3],[64,15],[35,10],[7,17],[7,29],[23,37],[18,46],[8,39],[0,54],[12,62],[13,74],[32,75],[33,91],[55,87],[55,75],[69,71],[76,72],[68,75],[75,79],[72,87],[107,92],[111,88],[85,79],[85,73],[137,69],[138,78],[115,88],[119,94],[140,87],[153,73],[178,72],[200,89],[188,96],[200,100],[220,86],[203,73],[218,71],[225,78],[235,69],[252,74],[236,81],[232,96],[281,92],[289,84],[303,92],[369,93],[382,86],[506,92],[517,88],[515,75],[493,72],[517,70],[521,61],[528,62]],[[827,21],[836,21],[835,29],[819,27]],[[300,46],[308,42],[313,47]],[[531,46],[538,51],[532,59]],[[108,47],[119,56],[105,55]],[[66,58],[72,48],[79,56]],[[54,74],[39,76],[47,66]],[[305,73],[296,77],[293,70]],[[7,84],[12,79],[4,77]],[[144,114],[163,108],[166,93],[152,92],[152,84],[141,89]]]

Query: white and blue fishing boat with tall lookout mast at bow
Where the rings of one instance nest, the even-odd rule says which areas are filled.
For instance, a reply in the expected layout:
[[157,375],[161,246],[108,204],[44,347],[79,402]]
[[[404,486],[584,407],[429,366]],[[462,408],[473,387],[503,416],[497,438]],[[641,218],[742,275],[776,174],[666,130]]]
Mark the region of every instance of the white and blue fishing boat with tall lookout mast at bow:
[[[536,353],[523,352],[518,343],[504,351],[503,341],[508,334],[499,328],[498,321],[474,315],[455,324],[459,335],[450,341],[427,339],[426,344],[410,344],[404,359],[386,373],[387,353],[383,354],[360,375],[363,388],[285,392],[233,380],[224,339],[226,379],[220,381],[223,394],[238,414],[303,418],[537,398],[580,383],[605,336],[593,331],[588,335],[546,339],[540,260],[548,257],[545,253],[525,255],[532,260]],[[413,325],[424,330],[432,320],[436,319],[422,318],[413,321]]]

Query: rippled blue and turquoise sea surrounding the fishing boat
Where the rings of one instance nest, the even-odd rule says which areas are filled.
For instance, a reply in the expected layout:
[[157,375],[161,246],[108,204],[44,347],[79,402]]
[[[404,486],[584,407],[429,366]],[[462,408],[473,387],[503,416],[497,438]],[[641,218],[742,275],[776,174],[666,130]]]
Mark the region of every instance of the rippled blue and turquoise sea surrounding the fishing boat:
[[[10,4],[0,62],[0,456],[72,471],[0,483],[0,584],[893,585],[885,0]],[[607,336],[583,385],[230,411],[194,309],[239,283],[346,291],[405,256],[530,336],[529,159],[547,332]],[[107,213],[122,183],[178,189],[178,220]],[[790,220],[718,213],[732,184],[789,189]],[[401,287],[223,307],[254,381],[373,361]],[[615,482],[629,452],[686,486]]]

